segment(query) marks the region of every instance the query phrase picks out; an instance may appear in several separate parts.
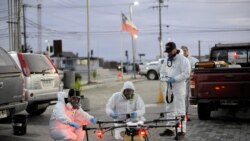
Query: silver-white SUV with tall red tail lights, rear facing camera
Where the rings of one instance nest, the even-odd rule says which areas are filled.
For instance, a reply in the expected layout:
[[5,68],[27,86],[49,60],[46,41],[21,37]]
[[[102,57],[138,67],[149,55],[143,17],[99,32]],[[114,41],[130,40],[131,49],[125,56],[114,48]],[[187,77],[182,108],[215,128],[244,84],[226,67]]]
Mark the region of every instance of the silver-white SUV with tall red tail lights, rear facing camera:
[[50,59],[42,54],[9,52],[23,72],[26,111],[40,115],[57,99],[60,76]]

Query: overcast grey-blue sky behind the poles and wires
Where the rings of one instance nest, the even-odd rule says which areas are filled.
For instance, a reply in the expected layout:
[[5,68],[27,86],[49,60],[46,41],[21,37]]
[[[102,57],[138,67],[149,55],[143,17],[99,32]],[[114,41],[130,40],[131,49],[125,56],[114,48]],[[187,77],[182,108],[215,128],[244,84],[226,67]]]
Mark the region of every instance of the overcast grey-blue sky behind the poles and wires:
[[[62,39],[63,50],[87,55],[86,0],[39,0],[42,4],[42,46],[44,40]],[[90,49],[94,56],[105,60],[125,60],[128,50],[132,60],[132,42],[127,32],[121,32],[121,13],[129,17],[132,0],[89,0]],[[36,6],[35,0],[24,3]],[[133,6],[132,19],[137,26],[136,53],[143,59],[156,59],[160,54],[158,0],[139,0]],[[186,45],[192,55],[208,54],[215,43],[250,42],[250,0],[165,0],[162,8],[163,44],[169,40],[177,46]],[[0,7],[1,9],[3,6]],[[0,10],[1,10],[0,9]],[[26,10],[28,44],[37,50],[37,8]],[[1,19],[0,19],[1,20]],[[167,27],[168,25],[168,27]],[[0,25],[1,28],[1,25]],[[1,31],[1,29],[0,29]],[[8,38],[6,38],[7,40]],[[8,42],[0,38],[0,45]],[[163,49],[164,50],[164,49]],[[138,56],[137,60],[139,59]]]

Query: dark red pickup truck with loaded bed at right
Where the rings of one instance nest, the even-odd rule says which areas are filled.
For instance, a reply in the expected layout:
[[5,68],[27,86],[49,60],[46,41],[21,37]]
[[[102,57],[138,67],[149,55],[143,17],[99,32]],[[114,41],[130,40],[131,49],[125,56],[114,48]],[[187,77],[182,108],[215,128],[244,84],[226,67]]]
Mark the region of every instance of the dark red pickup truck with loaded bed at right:
[[200,120],[218,108],[250,107],[250,43],[216,44],[190,78],[190,104]]

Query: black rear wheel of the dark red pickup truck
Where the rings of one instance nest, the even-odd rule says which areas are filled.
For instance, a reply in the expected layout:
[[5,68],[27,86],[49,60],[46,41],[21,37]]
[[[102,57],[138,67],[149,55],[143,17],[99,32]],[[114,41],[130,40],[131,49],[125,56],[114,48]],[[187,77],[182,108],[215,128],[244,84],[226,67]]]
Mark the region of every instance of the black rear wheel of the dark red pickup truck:
[[208,107],[208,104],[198,104],[198,117],[200,120],[209,120],[211,110]]

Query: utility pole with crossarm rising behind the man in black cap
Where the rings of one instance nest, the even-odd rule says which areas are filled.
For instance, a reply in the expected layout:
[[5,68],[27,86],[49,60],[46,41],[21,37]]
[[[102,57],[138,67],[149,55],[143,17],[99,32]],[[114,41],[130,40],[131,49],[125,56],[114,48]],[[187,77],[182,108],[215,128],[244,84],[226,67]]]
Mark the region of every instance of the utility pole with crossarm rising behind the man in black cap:
[[153,6],[153,8],[158,8],[159,9],[159,37],[158,37],[158,41],[159,41],[159,47],[160,47],[160,58],[163,57],[163,52],[162,52],[162,46],[163,46],[163,42],[162,42],[162,24],[161,24],[161,8],[162,7],[168,7],[167,5],[163,5],[164,0],[159,0],[159,5],[158,6]]

